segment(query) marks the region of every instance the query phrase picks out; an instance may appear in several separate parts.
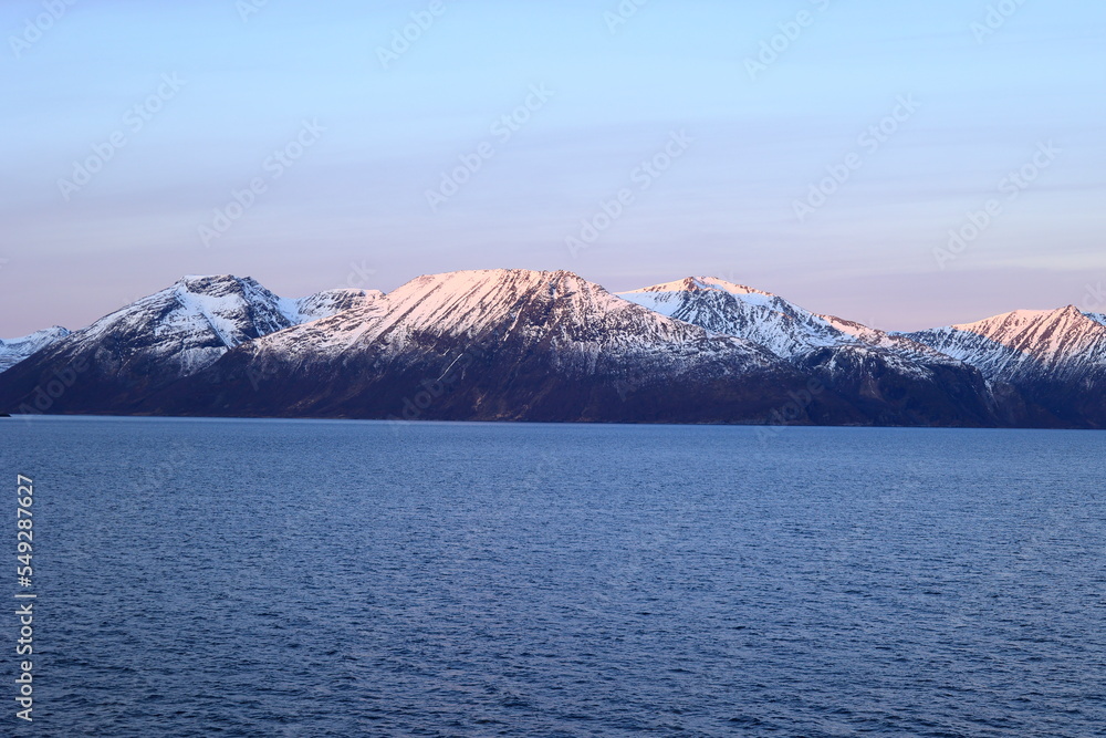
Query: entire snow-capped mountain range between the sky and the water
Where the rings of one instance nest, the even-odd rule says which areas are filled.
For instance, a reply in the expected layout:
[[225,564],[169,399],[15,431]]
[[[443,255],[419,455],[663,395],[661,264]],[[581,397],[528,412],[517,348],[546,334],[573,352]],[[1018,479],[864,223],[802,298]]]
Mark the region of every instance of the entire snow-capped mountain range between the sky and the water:
[[1106,427],[1106,316],[885,332],[708,277],[567,271],[280,298],[185,277],[92,325],[0,341],[0,412]]

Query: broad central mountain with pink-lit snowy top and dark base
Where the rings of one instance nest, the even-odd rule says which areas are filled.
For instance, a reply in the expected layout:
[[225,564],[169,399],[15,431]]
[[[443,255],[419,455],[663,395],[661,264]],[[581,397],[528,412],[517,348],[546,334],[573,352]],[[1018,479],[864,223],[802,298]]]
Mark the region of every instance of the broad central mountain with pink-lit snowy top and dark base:
[[[323,416],[763,422],[803,385],[749,341],[570,272],[500,269],[420,277],[251,341],[148,406],[185,412],[207,396],[206,413],[263,415],[279,397]],[[835,404],[845,405],[827,393],[801,415]]]

